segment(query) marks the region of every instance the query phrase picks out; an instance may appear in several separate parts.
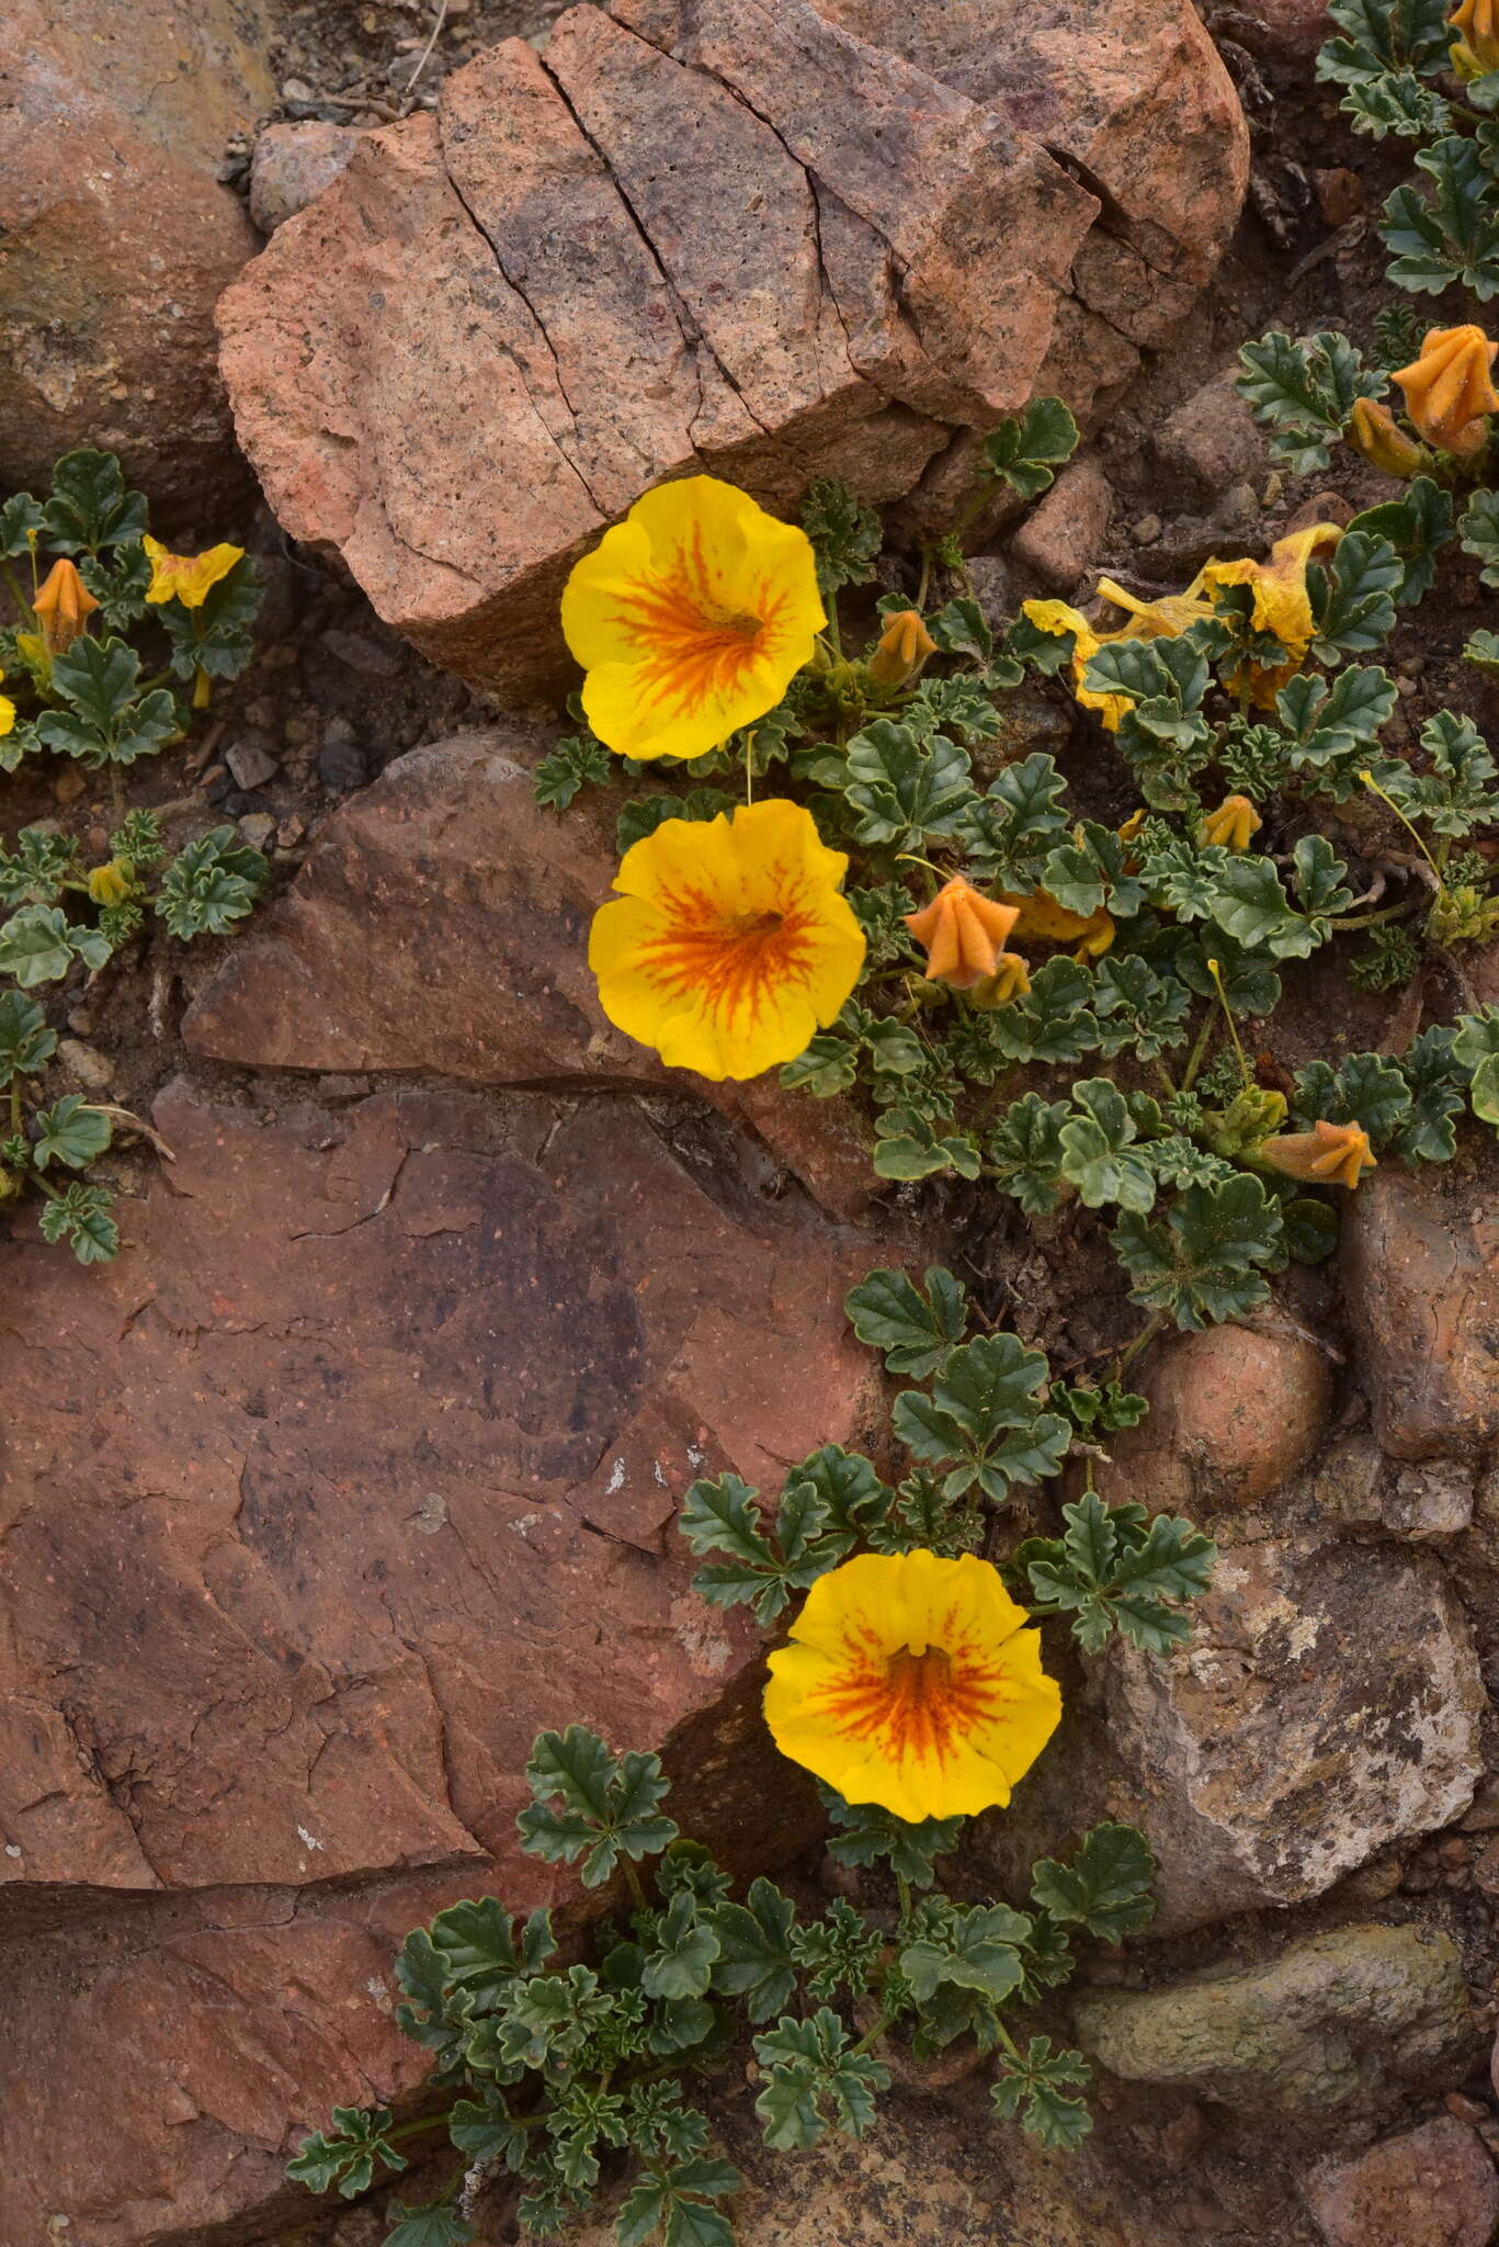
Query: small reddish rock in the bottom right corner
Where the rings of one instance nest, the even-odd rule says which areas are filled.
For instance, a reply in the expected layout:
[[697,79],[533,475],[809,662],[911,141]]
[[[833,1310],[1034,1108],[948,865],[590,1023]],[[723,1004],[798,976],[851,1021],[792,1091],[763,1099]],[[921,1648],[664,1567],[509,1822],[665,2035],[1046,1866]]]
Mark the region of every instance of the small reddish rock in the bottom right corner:
[[1479,2132],[1438,2114],[1351,2162],[1324,2162],[1306,2204],[1326,2247],[1490,2247],[1499,2177]]

